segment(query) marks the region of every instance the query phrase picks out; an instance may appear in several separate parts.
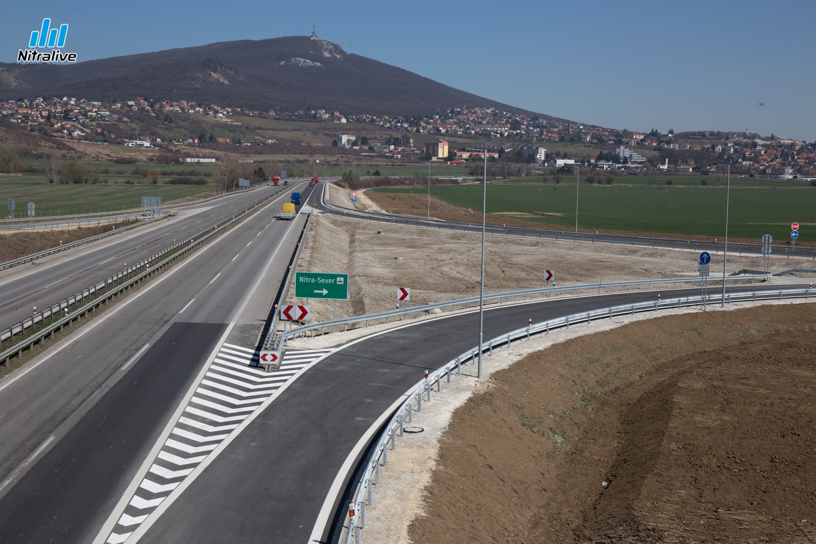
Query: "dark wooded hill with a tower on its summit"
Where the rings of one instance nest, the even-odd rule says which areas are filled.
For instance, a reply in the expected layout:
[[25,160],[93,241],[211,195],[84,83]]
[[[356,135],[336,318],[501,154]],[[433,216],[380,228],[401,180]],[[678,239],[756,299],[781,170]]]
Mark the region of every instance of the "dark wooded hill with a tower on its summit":
[[35,95],[168,99],[174,90],[178,98],[196,103],[259,111],[423,115],[467,104],[532,114],[306,36],[218,42],[73,65],[0,63],[0,100]]

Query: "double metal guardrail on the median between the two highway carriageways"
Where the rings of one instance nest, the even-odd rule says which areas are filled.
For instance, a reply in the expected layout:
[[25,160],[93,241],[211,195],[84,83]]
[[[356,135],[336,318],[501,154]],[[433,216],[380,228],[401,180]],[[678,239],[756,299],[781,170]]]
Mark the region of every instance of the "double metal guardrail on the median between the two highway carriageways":
[[[244,210],[242,213],[233,215],[227,219],[222,219],[208,228],[203,228],[193,236],[175,242],[175,244],[165,248],[157,254],[153,254],[149,258],[143,259],[135,265],[124,268],[122,272],[118,272],[113,276],[108,276],[104,279],[104,281],[100,281],[87,287],[78,294],[73,295],[73,297],[64,299],[60,301],[60,303],[53,304],[42,312],[35,312],[28,319],[20,321],[20,323],[0,331],[0,347],[2,347],[3,341],[12,340],[16,334],[23,334],[27,329],[34,329],[37,325],[44,325],[42,326],[42,329],[38,330],[34,334],[31,334],[28,338],[24,338],[20,342],[0,352],[0,365],[7,365],[12,356],[20,356],[24,349],[33,350],[34,346],[37,343],[42,343],[47,336],[53,338],[54,333],[60,332],[65,325],[70,325],[74,320],[78,320],[81,316],[85,316],[88,312],[92,312],[93,309],[95,307],[99,307],[100,304],[107,302],[109,299],[112,299],[114,296],[122,293],[124,290],[129,289],[131,286],[144,280],[145,277],[152,275],[157,270],[165,267],[169,263],[172,263],[175,261],[175,259],[179,259],[180,257],[184,256],[184,254],[188,254],[188,252],[197,249],[198,246],[211,240],[211,238],[220,235],[221,232],[223,232],[233,223],[237,223],[244,219],[247,215],[255,213],[255,210],[258,210],[260,206],[264,206],[264,204],[273,198],[273,196],[274,195],[264,198],[263,200],[257,202],[255,206],[246,208],[246,210]],[[166,254],[170,255],[166,257],[166,259],[155,263],[157,259]],[[149,266],[150,263],[154,263],[152,268]],[[131,276],[131,273],[138,272],[143,268],[143,272],[140,272],[137,276],[126,279]],[[116,286],[115,289],[111,289],[111,287],[114,285]],[[104,290],[104,294],[99,296],[100,291],[102,290]],[[90,302],[84,304],[82,307],[77,307],[78,303],[82,303],[82,301],[86,299],[91,299],[91,295],[94,295],[95,299],[90,300]],[[68,310],[71,307],[71,304],[73,304],[76,309],[69,313]],[[65,312],[66,315],[56,319],[56,321],[53,321],[55,320],[55,316],[60,316],[60,313],[62,312]],[[52,320],[50,324],[46,324],[46,320],[48,319]]]

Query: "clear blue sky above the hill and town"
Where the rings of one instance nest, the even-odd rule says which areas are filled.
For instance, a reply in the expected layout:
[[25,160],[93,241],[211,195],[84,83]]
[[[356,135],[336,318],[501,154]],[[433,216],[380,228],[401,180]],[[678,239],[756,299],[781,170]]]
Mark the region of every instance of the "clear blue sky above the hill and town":
[[69,24],[62,51],[80,61],[308,35],[315,24],[348,53],[536,113],[813,142],[814,16],[814,0],[44,0],[3,18],[0,61],[15,62],[45,17]]

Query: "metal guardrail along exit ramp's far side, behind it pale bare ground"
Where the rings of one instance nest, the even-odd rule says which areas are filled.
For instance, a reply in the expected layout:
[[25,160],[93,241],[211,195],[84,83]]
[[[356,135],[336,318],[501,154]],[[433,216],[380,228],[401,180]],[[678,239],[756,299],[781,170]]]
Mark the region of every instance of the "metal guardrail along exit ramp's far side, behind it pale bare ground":
[[[761,274],[757,276],[726,276],[725,282],[726,285],[731,283],[742,283],[745,281],[761,281],[769,279],[770,274]],[[714,285],[722,285],[722,276],[707,276],[707,285],[712,287]],[[716,278],[716,279],[715,279]],[[610,281],[605,283],[590,283],[590,284],[583,284],[583,285],[565,285],[564,287],[543,287],[540,289],[530,289],[530,290],[522,290],[522,291],[512,291],[508,293],[498,293],[498,294],[486,294],[484,299],[486,302],[490,301],[499,301],[499,304],[504,303],[505,299],[520,299],[524,297],[524,300],[530,298],[530,296],[534,295],[544,295],[544,296],[552,296],[554,293],[558,292],[566,292],[566,291],[573,291],[574,294],[578,294],[579,291],[589,291],[589,290],[597,290],[598,293],[601,293],[601,290],[609,290],[613,288],[620,288],[623,287],[623,292],[625,293],[629,287],[636,287],[639,285],[646,285],[647,289],[651,289],[652,285],[670,285],[674,284],[673,286],[676,287],[678,283],[682,284],[692,284],[692,285],[700,285],[702,282],[702,276],[694,276],[694,277],[685,277],[685,278],[669,278],[663,280],[636,280],[636,281]],[[517,302],[514,300],[513,302]],[[365,323],[367,327],[370,321],[381,321],[384,323],[388,323],[389,320],[392,318],[398,319],[407,319],[410,314],[416,313],[428,313],[431,315],[433,310],[439,309],[441,310],[444,307],[450,307],[450,311],[455,311],[456,307],[468,307],[478,305],[479,297],[468,297],[467,299],[457,299],[457,300],[448,300],[443,303],[432,303],[432,304],[424,304],[423,306],[414,306],[414,307],[405,307],[398,310],[391,310],[388,312],[379,312],[368,314],[366,316],[351,316],[351,317],[344,317],[341,319],[335,319],[331,321],[320,321],[318,323],[313,323],[311,325],[301,325],[299,327],[295,327],[295,329],[290,329],[282,332],[282,341],[283,345],[286,345],[286,341],[290,338],[298,338],[299,336],[304,336],[307,332],[313,333],[317,329],[321,329],[321,334],[323,333],[324,329],[328,329],[331,327],[335,329],[340,325],[343,325],[343,330],[345,331],[348,325],[353,325],[356,323]],[[313,336],[314,334],[312,334]],[[264,349],[268,349],[264,346]]]

